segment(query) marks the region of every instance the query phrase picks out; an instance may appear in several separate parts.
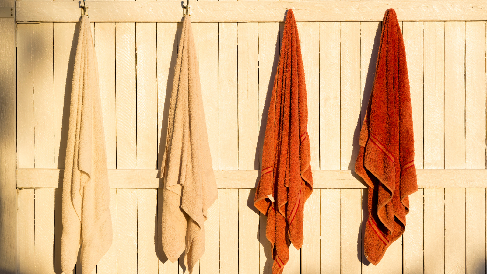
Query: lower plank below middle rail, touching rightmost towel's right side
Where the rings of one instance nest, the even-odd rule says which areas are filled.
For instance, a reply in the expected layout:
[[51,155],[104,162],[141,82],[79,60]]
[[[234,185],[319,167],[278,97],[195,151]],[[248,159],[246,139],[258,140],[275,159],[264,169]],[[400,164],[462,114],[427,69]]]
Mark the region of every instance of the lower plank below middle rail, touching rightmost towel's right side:
[[[406,22],[404,22],[406,23]],[[423,274],[423,189],[409,196],[403,239],[403,273]]]

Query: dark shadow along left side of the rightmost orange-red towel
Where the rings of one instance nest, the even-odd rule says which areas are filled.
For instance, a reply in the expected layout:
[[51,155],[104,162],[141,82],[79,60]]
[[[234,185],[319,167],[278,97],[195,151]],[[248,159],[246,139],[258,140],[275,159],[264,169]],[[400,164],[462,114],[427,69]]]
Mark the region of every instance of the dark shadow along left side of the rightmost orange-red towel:
[[[377,53],[379,51],[379,44],[380,44],[380,35],[382,31],[382,23],[379,23],[377,30],[375,32],[374,37],[374,46],[372,48],[372,53],[369,61],[369,67],[367,70],[367,77],[365,78],[365,85],[363,90],[363,97],[362,97],[362,104],[360,108],[360,115],[357,118],[357,125],[354,132],[354,142],[353,142],[353,149],[352,155],[350,159],[350,164],[348,166],[349,170],[355,170],[355,161],[358,155],[358,137],[360,134],[360,129],[362,127],[362,121],[365,117],[365,112],[367,111],[367,106],[369,104],[369,98],[372,93],[372,88],[374,86],[374,77],[375,77],[375,63],[377,62]],[[364,181],[360,179],[360,181],[365,185]],[[367,197],[368,197],[368,190],[364,190],[362,192],[362,212],[363,212],[363,219],[358,229],[358,236],[357,236],[357,258],[362,264],[368,266],[370,262],[365,258],[363,255],[363,239],[365,234],[365,224],[367,222],[367,218],[369,216],[369,210],[367,208]]]

